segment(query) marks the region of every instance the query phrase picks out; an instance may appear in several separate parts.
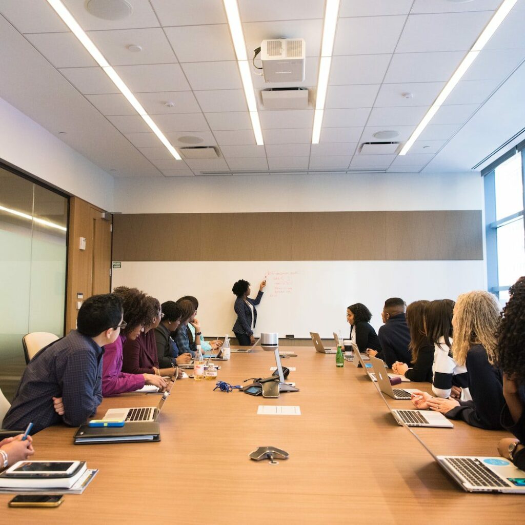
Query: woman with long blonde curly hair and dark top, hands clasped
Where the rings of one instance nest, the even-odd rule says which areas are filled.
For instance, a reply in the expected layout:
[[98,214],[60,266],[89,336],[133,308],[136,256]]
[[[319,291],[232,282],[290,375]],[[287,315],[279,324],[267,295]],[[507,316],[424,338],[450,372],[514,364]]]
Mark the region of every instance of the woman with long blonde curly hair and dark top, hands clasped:
[[492,293],[479,290],[458,297],[452,318],[451,350],[456,363],[467,367],[472,400],[429,397],[425,400],[428,408],[479,428],[501,428],[500,414],[505,404],[502,377],[493,366],[499,319],[499,302]]

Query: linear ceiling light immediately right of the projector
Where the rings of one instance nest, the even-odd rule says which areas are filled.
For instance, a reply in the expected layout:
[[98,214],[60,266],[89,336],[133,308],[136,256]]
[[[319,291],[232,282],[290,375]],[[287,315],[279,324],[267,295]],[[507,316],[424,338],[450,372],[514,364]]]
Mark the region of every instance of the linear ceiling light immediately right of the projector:
[[319,76],[317,78],[316,110],[313,113],[312,144],[319,144],[321,126],[323,123],[324,101],[327,97],[328,77],[332,62],[333,42],[339,16],[340,0],[327,0],[324,10],[323,39],[321,44],[321,59],[319,61]]

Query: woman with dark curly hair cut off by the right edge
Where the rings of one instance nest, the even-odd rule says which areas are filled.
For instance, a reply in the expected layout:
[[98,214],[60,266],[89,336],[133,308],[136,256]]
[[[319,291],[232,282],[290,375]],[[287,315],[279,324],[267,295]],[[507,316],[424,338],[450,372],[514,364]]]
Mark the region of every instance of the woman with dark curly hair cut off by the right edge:
[[525,277],[520,277],[509,293],[498,330],[496,361],[503,373],[506,401],[501,424],[517,439],[501,439],[498,450],[525,470]]

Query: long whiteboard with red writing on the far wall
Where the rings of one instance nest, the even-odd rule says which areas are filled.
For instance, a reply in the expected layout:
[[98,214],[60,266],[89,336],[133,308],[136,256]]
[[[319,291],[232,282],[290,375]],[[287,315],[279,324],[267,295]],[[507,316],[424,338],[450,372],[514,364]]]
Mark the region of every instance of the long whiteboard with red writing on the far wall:
[[362,302],[371,324],[382,324],[388,297],[406,303],[418,299],[456,299],[459,293],[484,289],[484,261],[122,261],[113,269],[112,287],[137,287],[162,303],[185,295],[199,301],[203,333],[233,335],[235,296],[232,286],[245,279],[256,297],[265,277],[265,294],[257,307],[255,333],[278,332],[309,338],[318,332],[349,333],[346,308]]

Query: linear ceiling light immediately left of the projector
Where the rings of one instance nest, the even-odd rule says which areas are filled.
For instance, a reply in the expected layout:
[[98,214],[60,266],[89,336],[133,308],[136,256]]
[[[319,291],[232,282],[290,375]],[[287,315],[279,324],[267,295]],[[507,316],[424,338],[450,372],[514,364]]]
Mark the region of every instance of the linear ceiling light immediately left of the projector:
[[246,42],[244,40],[243,25],[240,22],[239,6],[237,5],[237,0],[223,0],[223,3],[224,9],[226,10],[226,17],[228,18],[230,33],[232,34],[235,55],[237,56],[240,78],[243,81],[244,96],[246,97],[246,103],[248,104],[251,127],[254,129],[255,142],[257,145],[262,146],[264,142],[262,140],[259,113],[257,112],[257,101],[255,100],[254,85],[251,81],[251,70],[248,62],[248,55],[246,54]]

